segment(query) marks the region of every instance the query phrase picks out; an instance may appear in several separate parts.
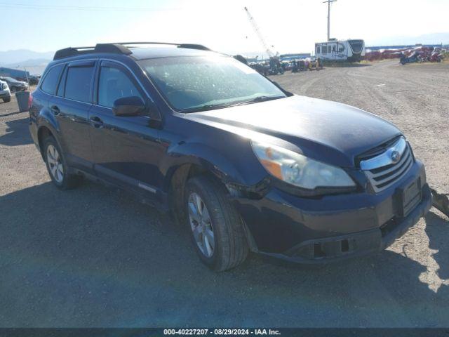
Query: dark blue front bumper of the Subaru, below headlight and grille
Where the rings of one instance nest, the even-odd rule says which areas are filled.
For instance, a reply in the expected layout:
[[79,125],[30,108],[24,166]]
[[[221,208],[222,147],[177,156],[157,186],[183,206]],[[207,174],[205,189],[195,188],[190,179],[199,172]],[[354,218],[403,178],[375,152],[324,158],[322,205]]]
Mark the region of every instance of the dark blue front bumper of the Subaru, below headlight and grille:
[[[420,199],[403,214],[401,197],[417,182]],[[253,251],[297,263],[323,263],[385,249],[431,208],[424,166],[380,193],[351,193],[319,199],[272,188],[262,199],[234,199]]]

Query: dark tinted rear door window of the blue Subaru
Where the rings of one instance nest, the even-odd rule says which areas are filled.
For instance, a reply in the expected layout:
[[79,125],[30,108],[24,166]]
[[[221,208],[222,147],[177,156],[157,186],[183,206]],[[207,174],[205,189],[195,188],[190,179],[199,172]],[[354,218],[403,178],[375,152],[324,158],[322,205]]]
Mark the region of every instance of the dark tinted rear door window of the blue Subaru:
[[69,67],[65,84],[65,98],[90,103],[93,70],[93,65]]

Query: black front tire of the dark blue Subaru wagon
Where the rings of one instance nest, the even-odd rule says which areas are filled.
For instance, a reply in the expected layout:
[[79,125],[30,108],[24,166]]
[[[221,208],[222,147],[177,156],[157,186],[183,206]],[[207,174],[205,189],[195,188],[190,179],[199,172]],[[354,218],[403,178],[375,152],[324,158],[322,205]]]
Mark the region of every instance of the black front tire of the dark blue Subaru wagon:
[[[194,235],[196,220],[193,219],[191,213],[191,201],[195,200],[195,197],[192,197],[194,195],[201,198],[210,218],[209,230],[203,231],[203,237],[210,237],[210,234],[208,236],[205,233],[210,232],[210,229],[213,231],[213,251],[210,256],[200,248],[198,241],[201,239],[199,240],[198,236]],[[206,176],[192,178],[187,182],[185,207],[187,208],[186,222],[192,242],[199,258],[205,265],[220,272],[243,263],[248,256],[248,242],[241,217],[227,199],[225,187]],[[203,209],[204,213],[206,211]]]

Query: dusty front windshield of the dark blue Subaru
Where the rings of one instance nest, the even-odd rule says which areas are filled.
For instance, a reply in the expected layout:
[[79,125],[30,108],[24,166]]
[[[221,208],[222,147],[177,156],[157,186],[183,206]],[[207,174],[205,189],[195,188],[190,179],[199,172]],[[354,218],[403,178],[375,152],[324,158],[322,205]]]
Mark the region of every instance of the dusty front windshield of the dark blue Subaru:
[[168,103],[180,112],[286,97],[272,82],[234,58],[157,58],[139,64]]

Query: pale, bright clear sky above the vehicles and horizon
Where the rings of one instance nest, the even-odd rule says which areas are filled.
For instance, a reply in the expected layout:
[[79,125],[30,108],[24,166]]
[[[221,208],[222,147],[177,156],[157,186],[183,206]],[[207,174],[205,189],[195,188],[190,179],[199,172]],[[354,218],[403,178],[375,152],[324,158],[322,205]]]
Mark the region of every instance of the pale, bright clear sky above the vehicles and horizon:
[[[280,53],[311,52],[326,40],[323,0],[0,0],[0,51],[55,51],[114,41],[204,44],[227,53],[261,51],[243,6]],[[331,36],[382,44],[389,37],[449,32],[449,0],[338,0]],[[445,42],[445,41],[435,41]]]

